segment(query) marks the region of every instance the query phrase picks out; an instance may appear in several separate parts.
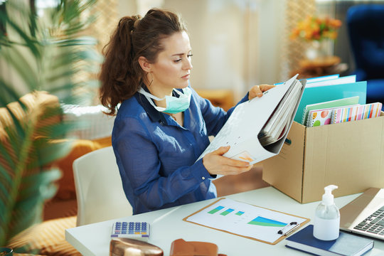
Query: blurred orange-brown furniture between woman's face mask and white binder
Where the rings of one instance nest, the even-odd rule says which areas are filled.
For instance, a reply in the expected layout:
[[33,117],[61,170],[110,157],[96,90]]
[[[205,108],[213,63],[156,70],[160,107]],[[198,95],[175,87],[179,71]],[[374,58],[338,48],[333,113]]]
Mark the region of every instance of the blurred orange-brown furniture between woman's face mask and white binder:
[[200,90],[200,89],[197,89],[196,92],[201,97],[209,100],[212,103],[212,105],[214,105],[215,107],[222,107],[223,110],[225,110],[225,111],[229,110],[231,107],[233,107],[235,105],[232,90],[225,90],[225,89]]

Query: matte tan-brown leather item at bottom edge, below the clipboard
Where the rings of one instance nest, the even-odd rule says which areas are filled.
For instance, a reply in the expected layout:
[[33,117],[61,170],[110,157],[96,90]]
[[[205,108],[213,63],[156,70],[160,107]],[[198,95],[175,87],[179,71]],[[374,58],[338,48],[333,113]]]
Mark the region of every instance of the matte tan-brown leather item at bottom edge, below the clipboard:
[[226,256],[218,255],[218,245],[212,242],[186,242],[183,239],[174,240],[171,244],[171,256]]

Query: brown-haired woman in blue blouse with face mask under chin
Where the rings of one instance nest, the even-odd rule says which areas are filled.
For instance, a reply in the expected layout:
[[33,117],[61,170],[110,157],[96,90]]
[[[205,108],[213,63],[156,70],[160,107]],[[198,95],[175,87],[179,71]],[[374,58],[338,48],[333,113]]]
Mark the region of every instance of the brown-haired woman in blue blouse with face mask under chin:
[[[188,85],[191,46],[179,16],[151,9],[124,17],[104,50],[100,98],[117,112],[112,146],[134,214],[215,198],[209,178],[251,169],[223,156],[229,147],[196,161],[233,109],[213,107]],[[240,102],[270,87],[252,87]]]

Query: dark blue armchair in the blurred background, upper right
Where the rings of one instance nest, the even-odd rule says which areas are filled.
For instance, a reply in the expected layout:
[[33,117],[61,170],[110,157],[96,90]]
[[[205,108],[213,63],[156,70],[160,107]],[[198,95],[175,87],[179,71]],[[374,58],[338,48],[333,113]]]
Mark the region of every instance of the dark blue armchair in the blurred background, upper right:
[[356,79],[367,81],[368,103],[384,103],[384,4],[351,6],[346,23]]

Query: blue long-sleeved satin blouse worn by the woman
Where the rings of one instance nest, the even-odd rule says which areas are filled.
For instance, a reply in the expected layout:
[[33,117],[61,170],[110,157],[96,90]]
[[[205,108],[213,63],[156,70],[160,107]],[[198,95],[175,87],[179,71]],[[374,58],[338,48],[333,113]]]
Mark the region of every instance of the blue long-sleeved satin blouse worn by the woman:
[[[208,146],[208,136],[219,132],[233,108],[225,112],[213,107],[191,90],[183,127],[155,110],[139,92],[119,107],[112,146],[134,214],[217,196],[203,160],[196,159]],[[246,95],[240,102],[247,99]]]

